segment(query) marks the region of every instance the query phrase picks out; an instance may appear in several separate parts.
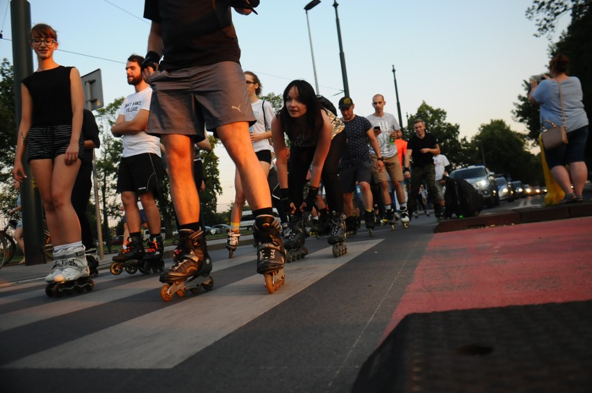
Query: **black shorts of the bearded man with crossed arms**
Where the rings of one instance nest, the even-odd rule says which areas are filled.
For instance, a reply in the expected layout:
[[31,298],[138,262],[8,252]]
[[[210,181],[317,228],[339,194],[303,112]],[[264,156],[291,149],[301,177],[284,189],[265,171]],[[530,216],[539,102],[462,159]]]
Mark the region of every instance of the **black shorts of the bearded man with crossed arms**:
[[154,153],[124,157],[117,173],[117,192],[124,191],[158,195],[163,174],[163,161]]

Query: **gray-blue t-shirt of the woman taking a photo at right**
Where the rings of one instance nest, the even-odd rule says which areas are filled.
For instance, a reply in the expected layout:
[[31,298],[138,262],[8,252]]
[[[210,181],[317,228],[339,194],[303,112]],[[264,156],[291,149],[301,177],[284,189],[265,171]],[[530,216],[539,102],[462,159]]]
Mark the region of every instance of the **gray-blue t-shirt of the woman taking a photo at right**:
[[[575,76],[561,82],[561,92],[564,96],[564,108],[566,112],[566,131],[574,131],[588,125],[588,117],[582,103],[582,83]],[[545,79],[542,81],[534,94],[535,101],[541,106],[541,119],[550,121],[560,126],[561,122],[561,100],[559,99],[559,87],[557,81]],[[545,128],[550,128],[545,123]]]

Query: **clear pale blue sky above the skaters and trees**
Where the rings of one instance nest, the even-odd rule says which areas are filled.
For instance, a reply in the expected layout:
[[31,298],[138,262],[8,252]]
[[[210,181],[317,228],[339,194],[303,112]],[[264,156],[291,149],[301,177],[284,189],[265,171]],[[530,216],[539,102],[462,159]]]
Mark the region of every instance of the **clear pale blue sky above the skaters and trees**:
[[[261,0],[259,15],[234,13],[245,70],[258,74],[263,94],[282,94],[293,79],[315,85],[304,6],[309,0]],[[0,58],[12,62],[10,0],[0,0]],[[56,61],[81,74],[101,69],[104,100],[131,94],[124,65],[146,52],[149,22],[143,0],[30,0],[31,22],[58,31]],[[320,94],[336,105],[343,83],[333,0],[309,11]],[[372,95],[384,94],[385,110],[397,113],[395,66],[403,122],[422,101],[447,112],[461,136],[474,135],[491,119],[515,131],[511,110],[523,80],[545,71],[546,37],[534,37],[525,17],[532,0],[339,0],[338,14],[350,95],[358,115],[372,112]],[[8,12],[8,15],[6,15]],[[568,22],[561,20],[559,31]],[[557,39],[554,37],[554,40]],[[69,53],[73,52],[73,53]],[[94,57],[93,57],[94,56]],[[36,67],[36,64],[34,65]],[[404,124],[406,125],[406,124]],[[429,126],[429,125],[428,125]],[[233,164],[222,149],[219,203],[233,200]]]

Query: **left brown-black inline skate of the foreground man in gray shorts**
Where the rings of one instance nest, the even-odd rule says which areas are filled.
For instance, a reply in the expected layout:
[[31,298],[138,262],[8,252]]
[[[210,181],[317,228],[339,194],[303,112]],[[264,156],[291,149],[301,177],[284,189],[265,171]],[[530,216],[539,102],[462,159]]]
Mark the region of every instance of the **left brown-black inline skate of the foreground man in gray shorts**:
[[191,231],[181,229],[179,231],[179,244],[174,250],[174,263],[172,267],[162,272],[159,278],[161,283],[161,298],[170,301],[176,293],[184,297],[187,290],[197,294],[201,287],[212,290],[214,280],[210,276],[212,261],[208,258],[206,234],[202,229]]

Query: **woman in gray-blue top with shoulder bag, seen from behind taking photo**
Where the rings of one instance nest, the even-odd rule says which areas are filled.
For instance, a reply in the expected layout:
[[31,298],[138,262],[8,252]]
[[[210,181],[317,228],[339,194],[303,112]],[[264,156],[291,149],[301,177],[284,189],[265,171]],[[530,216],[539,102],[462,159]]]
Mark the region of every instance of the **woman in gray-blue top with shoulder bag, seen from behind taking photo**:
[[[563,95],[568,144],[553,149],[545,149],[545,158],[551,174],[564,190],[564,203],[583,201],[582,192],[588,176],[584,162],[586,141],[588,140],[588,117],[582,103],[582,84],[575,76],[566,74],[569,65],[567,56],[558,54],[549,63],[550,78],[538,84],[530,81],[529,101],[541,106],[541,119],[545,124],[563,124],[559,85]],[[569,172],[566,169],[569,165]],[[571,178],[571,179],[570,179]],[[573,182],[573,190],[571,183]]]

